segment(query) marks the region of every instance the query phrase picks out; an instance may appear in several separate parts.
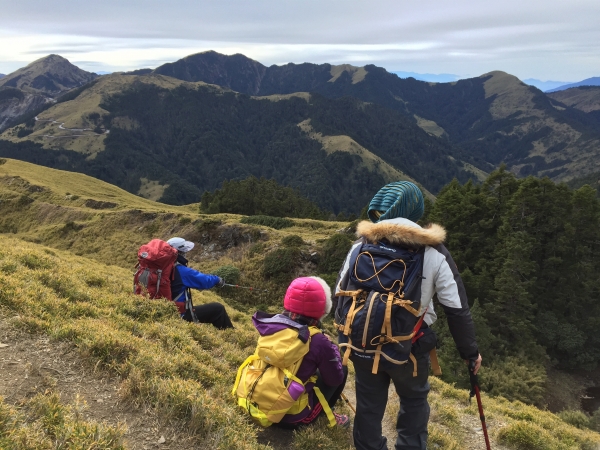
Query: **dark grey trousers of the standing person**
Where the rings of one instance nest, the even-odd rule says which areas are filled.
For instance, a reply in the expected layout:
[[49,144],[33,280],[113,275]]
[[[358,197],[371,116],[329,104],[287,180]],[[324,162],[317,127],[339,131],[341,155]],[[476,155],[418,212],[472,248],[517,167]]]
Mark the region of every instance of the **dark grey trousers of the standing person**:
[[425,450],[427,422],[429,421],[429,354],[417,357],[417,376],[413,364],[372,374],[372,361],[352,357],[356,379],[356,418],[354,445],[358,450],[388,450],[387,439],[381,433],[381,421],[388,401],[390,381],[400,397],[400,411],[396,420],[396,450]]

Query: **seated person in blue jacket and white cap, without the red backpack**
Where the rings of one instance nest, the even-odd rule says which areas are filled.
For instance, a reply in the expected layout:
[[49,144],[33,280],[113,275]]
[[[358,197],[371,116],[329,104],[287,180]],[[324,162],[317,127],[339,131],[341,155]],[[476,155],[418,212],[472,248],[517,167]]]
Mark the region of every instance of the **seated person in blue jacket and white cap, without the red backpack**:
[[[210,289],[214,286],[223,287],[225,280],[217,275],[207,275],[187,267],[188,260],[185,255],[194,248],[194,243],[180,237],[174,237],[167,243],[177,250],[173,281],[171,281],[171,296],[182,318],[188,322],[211,323],[216,328],[233,328],[233,324],[225,311],[225,307],[218,303],[193,306],[190,289]],[[191,305],[191,307],[187,307]]]

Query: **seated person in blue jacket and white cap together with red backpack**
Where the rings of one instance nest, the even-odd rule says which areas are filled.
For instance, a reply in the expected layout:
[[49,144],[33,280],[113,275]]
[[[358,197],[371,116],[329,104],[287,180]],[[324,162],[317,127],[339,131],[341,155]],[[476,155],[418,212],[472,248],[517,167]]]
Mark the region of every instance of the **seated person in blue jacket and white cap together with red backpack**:
[[134,292],[149,298],[172,300],[184,320],[211,323],[216,328],[233,328],[225,307],[212,302],[194,306],[191,289],[222,287],[225,280],[187,267],[187,252],[194,243],[180,237],[164,242],[153,239],[138,252],[138,269],[134,275]]

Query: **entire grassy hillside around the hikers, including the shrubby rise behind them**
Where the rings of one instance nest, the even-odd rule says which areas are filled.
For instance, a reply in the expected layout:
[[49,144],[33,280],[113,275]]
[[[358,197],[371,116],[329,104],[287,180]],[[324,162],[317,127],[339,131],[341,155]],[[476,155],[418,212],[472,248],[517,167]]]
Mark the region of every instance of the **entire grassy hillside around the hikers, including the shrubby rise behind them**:
[[[198,215],[197,206],[156,204],[116,188],[100,194],[106,188],[103,183],[68,175],[76,175],[69,194],[67,187],[55,184],[67,181],[64,172],[17,161],[0,166],[2,223],[9,220],[16,227],[0,235],[0,314],[23,330],[76,345],[82,358],[121,377],[125,399],[157,409],[165,421],[184,423],[199,447],[279,450],[269,430],[250,424],[230,396],[235,370],[254,350],[257,338],[250,315],[256,308],[279,311],[283,290],[294,276],[337,270],[333,267],[339,266],[344,246],[351,242],[343,224],[285,219],[290,226],[279,230],[253,221],[241,224],[241,216]],[[98,196],[90,195],[93,188]],[[99,203],[111,199],[117,206],[90,208],[83,196],[73,198],[82,194]],[[140,223],[145,224],[141,230]],[[128,267],[137,246],[152,237],[174,234],[198,242],[192,265],[201,262],[201,270],[235,275],[240,284],[258,282],[258,287],[269,289],[267,293],[213,290],[194,297],[196,303],[226,303],[235,330],[181,321],[171,304],[131,294]],[[315,251],[316,260],[311,256]],[[475,405],[468,405],[467,392],[439,380],[433,380],[432,387],[429,445],[482,448],[481,442],[473,440],[478,413]],[[50,405],[53,411],[63,408],[66,422],[55,428],[57,433],[72,427],[69,421],[75,419],[68,415],[69,405],[59,405],[55,397],[40,397],[36,402]],[[598,434],[569,425],[550,412],[487,395],[484,404],[497,448],[592,450],[600,445]],[[12,436],[36,426],[31,420],[39,416],[21,419],[27,409],[2,408],[6,419],[0,421],[0,429]],[[393,422],[396,411],[397,404],[391,403],[386,421]],[[570,416],[564,418],[578,423]],[[102,424],[76,425],[82,430],[95,426]],[[106,431],[95,434],[96,439],[112,439],[116,445],[102,448],[120,448],[119,431],[102,429]],[[85,441],[84,435],[78,442],[91,445],[93,439]],[[314,448],[320,443],[341,450],[349,448],[350,442],[348,431],[329,430],[320,423],[295,433],[292,446]]]

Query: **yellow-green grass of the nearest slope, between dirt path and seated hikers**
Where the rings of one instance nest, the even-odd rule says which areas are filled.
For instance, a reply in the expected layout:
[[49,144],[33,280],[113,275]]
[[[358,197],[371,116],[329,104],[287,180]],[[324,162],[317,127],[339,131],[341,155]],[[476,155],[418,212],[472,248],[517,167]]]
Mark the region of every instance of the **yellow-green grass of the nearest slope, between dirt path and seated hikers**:
[[[237,366],[256,343],[249,314],[227,308],[235,330],[187,323],[168,302],[131,294],[127,270],[6,236],[0,236],[0,244],[5,249],[0,254],[0,305],[14,326],[72,342],[83,358],[121,377],[125,399],[158,409],[165,421],[184,423],[200,447],[277,448],[259,443],[257,437],[265,432],[236,410],[230,394]],[[196,296],[197,303],[215,300],[222,301],[213,292]],[[598,434],[549,412],[485,395],[483,401],[494,425],[492,437],[505,448],[592,450],[600,444]],[[467,392],[434,381],[431,403],[429,444],[465,448],[462,436],[470,431],[463,424],[476,424],[478,414],[474,404],[468,406]],[[8,423],[19,429],[18,423],[11,423],[18,419],[17,412],[6,407],[2,412],[3,427]],[[112,433],[111,439],[118,438]],[[94,435],[106,439],[101,436]],[[347,449],[350,435],[320,422],[296,433],[293,448],[316,443]]]

